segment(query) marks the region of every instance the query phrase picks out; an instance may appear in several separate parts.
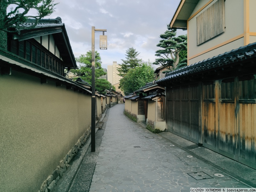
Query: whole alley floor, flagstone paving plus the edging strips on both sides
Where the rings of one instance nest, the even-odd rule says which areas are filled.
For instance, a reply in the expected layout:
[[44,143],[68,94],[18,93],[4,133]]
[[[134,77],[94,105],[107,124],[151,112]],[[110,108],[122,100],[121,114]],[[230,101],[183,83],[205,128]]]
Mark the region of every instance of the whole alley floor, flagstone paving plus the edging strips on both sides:
[[173,142],[168,139],[170,132],[154,134],[143,124],[131,121],[123,111],[124,104],[107,110],[102,129],[96,133],[96,152],[85,145],[76,157],[81,165],[71,164],[53,191],[164,192],[255,185],[254,169],[210,150],[205,152],[178,136]]

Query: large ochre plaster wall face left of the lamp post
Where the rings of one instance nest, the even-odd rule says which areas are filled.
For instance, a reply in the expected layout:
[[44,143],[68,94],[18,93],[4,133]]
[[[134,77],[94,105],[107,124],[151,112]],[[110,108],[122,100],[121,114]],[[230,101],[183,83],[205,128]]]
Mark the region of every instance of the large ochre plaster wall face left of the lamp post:
[[38,191],[91,124],[91,96],[12,70],[0,75],[1,191]]

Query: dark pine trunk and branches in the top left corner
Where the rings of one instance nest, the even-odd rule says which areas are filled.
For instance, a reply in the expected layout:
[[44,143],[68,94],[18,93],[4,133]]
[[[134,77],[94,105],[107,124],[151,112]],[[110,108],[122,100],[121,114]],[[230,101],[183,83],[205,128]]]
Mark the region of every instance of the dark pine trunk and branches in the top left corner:
[[[10,12],[6,12],[8,6]],[[35,28],[38,21],[54,12],[54,0],[0,0],[0,47],[7,49],[7,33],[18,32],[21,29]],[[37,15],[29,15],[29,10],[34,9]],[[28,18],[35,19],[35,24],[31,26],[21,26]]]

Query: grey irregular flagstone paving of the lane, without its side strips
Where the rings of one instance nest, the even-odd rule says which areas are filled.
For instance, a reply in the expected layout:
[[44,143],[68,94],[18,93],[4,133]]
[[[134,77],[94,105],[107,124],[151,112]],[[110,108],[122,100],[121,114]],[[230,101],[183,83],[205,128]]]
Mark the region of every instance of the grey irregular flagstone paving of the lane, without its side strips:
[[90,192],[247,188],[110,108]]

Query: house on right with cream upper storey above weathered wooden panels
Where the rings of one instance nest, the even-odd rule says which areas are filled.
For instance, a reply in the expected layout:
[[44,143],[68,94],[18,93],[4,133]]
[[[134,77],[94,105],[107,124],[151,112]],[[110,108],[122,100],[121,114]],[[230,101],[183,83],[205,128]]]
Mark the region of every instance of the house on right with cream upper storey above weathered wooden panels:
[[156,81],[166,87],[168,131],[252,168],[255,6],[252,0],[181,0],[170,27],[188,30],[189,65]]

